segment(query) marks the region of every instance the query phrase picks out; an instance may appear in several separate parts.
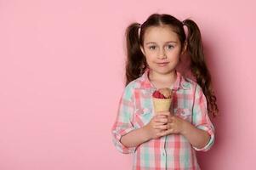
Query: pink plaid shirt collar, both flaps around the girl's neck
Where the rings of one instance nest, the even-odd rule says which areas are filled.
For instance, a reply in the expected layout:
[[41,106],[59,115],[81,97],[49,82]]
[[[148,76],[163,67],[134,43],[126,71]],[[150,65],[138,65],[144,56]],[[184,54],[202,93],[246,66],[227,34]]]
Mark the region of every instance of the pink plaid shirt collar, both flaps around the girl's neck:
[[[149,72],[150,72],[150,69],[146,69],[144,74],[142,75],[142,77],[141,77],[141,88],[145,88],[145,89],[153,88],[153,89],[156,89],[154,87],[154,85],[151,83],[150,79],[149,79]],[[187,82],[185,81],[185,78],[182,77],[180,72],[176,71],[176,74],[177,74],[177,78],[176,78],[176,81],[174,82],[174,87],[172,89],[174,91],[179,90],[179,88],[189,89],[189,86],[188,86]]]

